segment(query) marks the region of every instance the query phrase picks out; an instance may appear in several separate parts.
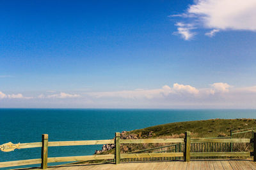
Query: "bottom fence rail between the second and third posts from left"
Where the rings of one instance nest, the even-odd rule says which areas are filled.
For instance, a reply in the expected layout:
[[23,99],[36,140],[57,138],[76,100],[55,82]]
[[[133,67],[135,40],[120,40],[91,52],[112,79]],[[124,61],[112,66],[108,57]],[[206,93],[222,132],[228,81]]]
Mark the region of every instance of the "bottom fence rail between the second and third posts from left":
[[156,158],[156,157],[182,157],[183,152],[170,153],[122,153],[121,159],[125,158]]

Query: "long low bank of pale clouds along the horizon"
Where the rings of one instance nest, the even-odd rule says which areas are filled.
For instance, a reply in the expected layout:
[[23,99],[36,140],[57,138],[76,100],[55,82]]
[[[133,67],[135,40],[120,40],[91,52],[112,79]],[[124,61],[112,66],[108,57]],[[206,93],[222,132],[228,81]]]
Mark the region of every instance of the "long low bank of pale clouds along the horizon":
[[[256,108],[256,85],[234,87],[217,82],[204,88],[173,83],[158,89],[116,90],[106,92],[60,92],[26,97],[20,93],[0,92],[0,106],[23,103],[26,106],[61,106],[74,108]],[[35,105],[32,105],[35,106]]]

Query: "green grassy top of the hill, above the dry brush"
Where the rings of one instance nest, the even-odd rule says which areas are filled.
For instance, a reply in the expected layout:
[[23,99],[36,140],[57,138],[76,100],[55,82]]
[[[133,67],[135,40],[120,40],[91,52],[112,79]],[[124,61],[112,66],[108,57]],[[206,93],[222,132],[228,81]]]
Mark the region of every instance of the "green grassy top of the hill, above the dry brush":
[[130,131],[134,134],[148,134],[152,131],[155,138],[159,136],[173,136],[182,134],[185,131],[192,132],[192,137],[207,138],[216,137],[220,134],[230,136],[230,130],[246,129],[256,127],[256,119],[211,119],[189,122],[176,122],[171,124],[156,125],[145,129]]

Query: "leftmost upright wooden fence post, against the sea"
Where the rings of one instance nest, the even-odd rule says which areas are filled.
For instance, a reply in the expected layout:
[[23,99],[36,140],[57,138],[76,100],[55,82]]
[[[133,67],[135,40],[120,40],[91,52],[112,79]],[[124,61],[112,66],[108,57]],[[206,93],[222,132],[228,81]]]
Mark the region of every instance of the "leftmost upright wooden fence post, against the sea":
[[48,159],[48,134],[42,134],[42,152],[41,152],[41,168],[47,168],[47,159]]

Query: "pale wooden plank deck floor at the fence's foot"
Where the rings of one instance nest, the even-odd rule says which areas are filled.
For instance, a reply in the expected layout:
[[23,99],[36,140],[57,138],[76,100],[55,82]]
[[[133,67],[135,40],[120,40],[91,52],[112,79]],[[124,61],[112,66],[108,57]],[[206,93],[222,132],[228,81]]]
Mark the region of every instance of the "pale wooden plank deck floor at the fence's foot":
[[94,164],[94,165],[69,165],[48,167],[49,170],[62,169],[256,169],[256,162],[252,160],[191,160],[183,161],[166,161],[166,162],[131,162],[121,164]]

